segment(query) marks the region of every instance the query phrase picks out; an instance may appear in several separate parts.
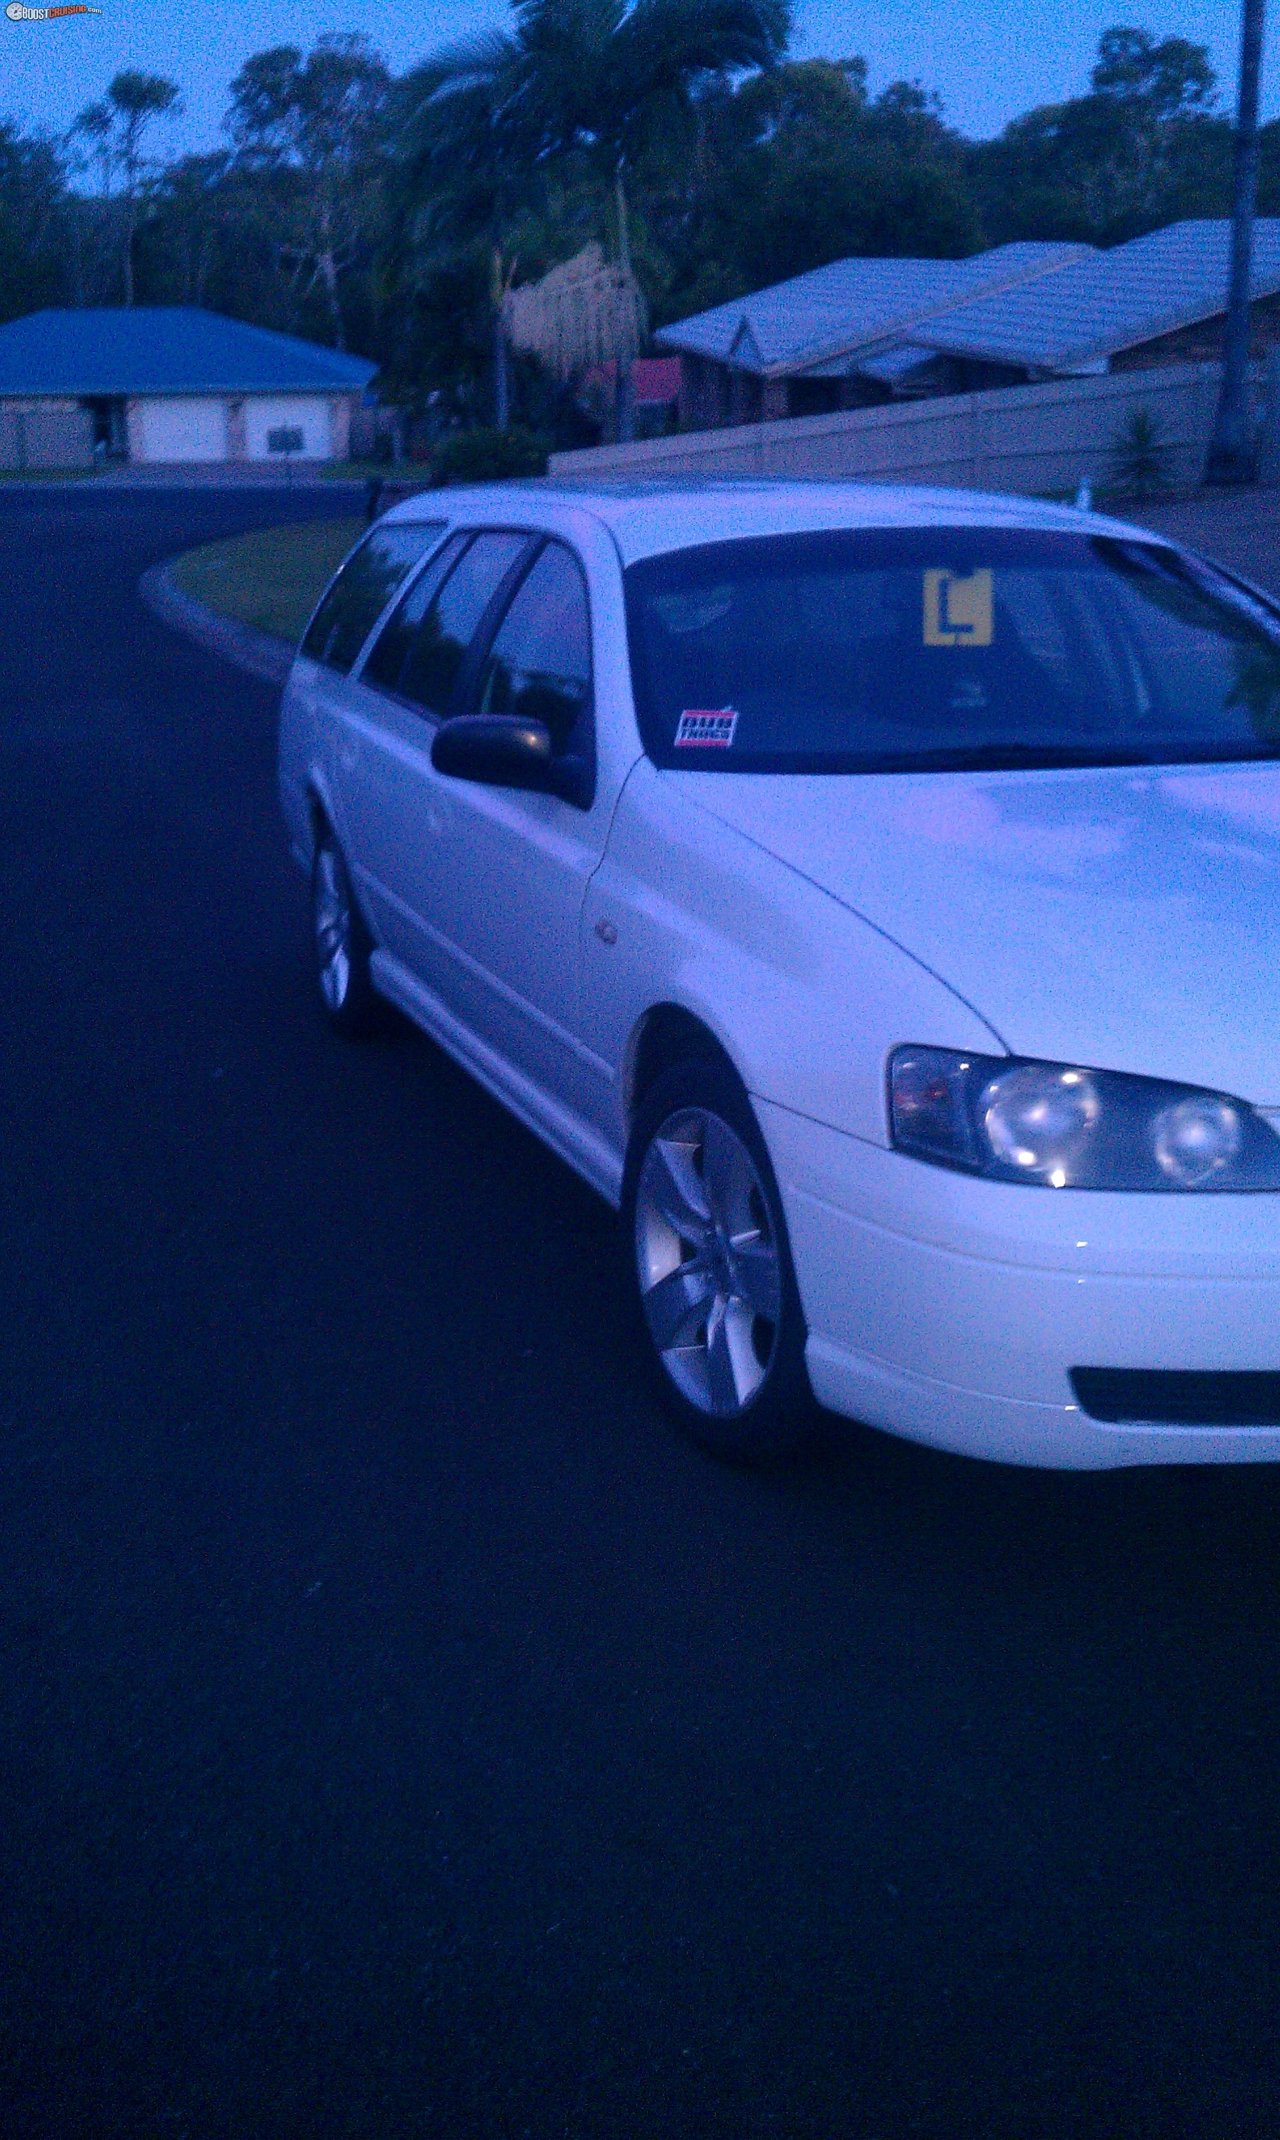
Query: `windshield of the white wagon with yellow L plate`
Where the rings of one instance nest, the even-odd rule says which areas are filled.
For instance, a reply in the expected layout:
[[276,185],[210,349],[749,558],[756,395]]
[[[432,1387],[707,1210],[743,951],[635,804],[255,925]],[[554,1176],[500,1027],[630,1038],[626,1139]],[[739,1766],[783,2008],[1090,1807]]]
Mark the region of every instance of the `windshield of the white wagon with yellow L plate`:
[[858,529],[627,571],[657,766],[916,773],[1280,753],[1280,610],[1162,544]]

